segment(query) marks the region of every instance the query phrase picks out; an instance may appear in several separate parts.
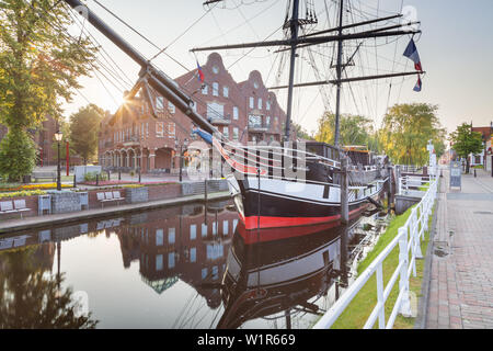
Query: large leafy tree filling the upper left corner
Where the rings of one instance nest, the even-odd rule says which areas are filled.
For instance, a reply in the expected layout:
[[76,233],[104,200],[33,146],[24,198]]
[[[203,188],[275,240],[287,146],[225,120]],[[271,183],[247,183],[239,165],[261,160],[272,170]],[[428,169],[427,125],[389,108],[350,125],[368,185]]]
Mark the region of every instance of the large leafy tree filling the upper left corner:
[[35,166],[28,131],[47,114],[61,115],[61,104],[80,88],[77,79],[89,73],[96,49],[64,30],[71,18],[59,1],[3,0],[0,10],[0,123],[9,128],[0,145],[0,174],[19,180]]

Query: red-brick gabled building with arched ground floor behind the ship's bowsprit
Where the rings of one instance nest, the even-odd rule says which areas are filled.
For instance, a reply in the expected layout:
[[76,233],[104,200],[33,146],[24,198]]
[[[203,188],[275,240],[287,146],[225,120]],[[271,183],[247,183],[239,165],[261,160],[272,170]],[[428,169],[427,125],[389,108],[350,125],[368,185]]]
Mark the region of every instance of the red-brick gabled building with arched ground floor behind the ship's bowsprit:
[[[202,67],[205,84],[197,69],[175,81],[195,101],[196,111],[206,116],[230,140],[282,140],[286,118],[276,95],[270,92],[259,71],[237,83],[225,68],[219,54],[213,53]],[[172,172],[179,168],[176,151],[191,139],[192,121],[162,97],[156,95],[158,118],[140,92],[101,124],[99,160],[106,168],[140,168],[146,172]],[[113,124],[112,124],[112,123]]]

